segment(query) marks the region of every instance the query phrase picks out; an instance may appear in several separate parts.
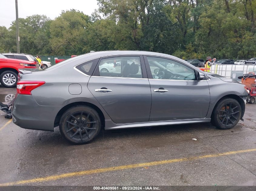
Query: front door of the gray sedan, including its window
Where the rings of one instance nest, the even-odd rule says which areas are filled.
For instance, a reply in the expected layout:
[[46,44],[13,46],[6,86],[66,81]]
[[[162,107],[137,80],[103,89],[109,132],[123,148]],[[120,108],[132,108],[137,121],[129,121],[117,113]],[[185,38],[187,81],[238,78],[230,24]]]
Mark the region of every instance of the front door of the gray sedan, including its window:
[[179,61],[144,59],[152,94],[150,121],[206,117],[210,104],[207,80],[196,80],[194,68]]

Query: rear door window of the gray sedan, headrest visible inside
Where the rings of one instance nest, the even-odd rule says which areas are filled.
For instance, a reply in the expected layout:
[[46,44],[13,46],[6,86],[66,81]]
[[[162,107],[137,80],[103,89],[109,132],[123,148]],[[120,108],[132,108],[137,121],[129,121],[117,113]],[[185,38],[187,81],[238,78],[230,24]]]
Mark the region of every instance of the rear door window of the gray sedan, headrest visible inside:
[[101,59],[95,69],[95,76],[142,78],[139,56],[121,56]]

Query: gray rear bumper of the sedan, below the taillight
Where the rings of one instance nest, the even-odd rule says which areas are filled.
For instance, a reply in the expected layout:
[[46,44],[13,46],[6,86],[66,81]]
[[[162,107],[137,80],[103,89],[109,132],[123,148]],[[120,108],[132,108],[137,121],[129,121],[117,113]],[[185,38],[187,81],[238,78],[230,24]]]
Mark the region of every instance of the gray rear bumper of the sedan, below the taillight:
[[13,100],[13,123],[25,129],[54,131],[54,120],[61,106],[41,106],[32,95],[17,94]]

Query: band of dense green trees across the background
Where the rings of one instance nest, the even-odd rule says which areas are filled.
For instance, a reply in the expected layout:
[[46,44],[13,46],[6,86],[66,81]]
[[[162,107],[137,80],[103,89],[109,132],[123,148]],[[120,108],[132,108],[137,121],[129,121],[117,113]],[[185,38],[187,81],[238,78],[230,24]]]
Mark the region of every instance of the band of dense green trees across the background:
[[[255,0],[98,0],[91,16],[19,18],[20,52],[79,55],[146,50],[183,59],[256,56]],[[16,52],[15,21],[0,27],[0,52]]]

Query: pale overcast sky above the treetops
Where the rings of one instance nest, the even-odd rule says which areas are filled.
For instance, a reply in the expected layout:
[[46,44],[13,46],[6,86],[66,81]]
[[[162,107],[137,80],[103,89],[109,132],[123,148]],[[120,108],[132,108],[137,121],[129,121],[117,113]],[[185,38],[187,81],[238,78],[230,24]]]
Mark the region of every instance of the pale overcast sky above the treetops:
[[[91,15],[98,9],[97,0],[18,0],[19,18],[33,14],[45,14],[54,19],[62,10],[76,9]],[[0,0],[0,26],[9,28],[16,19],[15,0]]]

